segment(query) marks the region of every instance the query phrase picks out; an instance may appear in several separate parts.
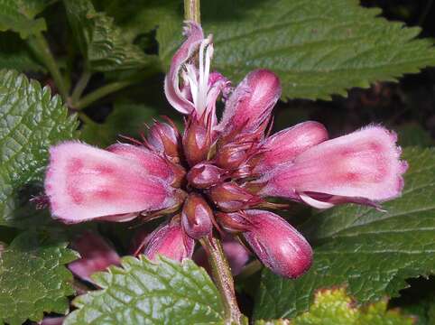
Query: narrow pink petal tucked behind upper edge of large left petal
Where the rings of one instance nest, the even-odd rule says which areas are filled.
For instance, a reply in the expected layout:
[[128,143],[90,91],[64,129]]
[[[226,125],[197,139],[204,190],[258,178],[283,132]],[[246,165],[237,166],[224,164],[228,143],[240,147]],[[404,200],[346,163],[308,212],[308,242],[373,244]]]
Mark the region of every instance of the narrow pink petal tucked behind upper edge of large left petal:
[[164,181],[170,182],[173,177],[170,165],[161,156],[145,147],[133,144],[112,144],[106,150],[133,160],[142,166],[145,172]]

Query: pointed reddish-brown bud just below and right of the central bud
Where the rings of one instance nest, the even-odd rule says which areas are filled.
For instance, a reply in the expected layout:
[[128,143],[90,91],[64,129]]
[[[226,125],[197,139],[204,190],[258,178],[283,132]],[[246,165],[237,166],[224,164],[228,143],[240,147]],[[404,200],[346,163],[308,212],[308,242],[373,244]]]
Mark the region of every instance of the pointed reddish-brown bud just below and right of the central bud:
[[219,209],[226,212],[250,209],[262,202],[262,199],[244,190],[235,182],[226,182],[212,187],[208,190],[208,196]]

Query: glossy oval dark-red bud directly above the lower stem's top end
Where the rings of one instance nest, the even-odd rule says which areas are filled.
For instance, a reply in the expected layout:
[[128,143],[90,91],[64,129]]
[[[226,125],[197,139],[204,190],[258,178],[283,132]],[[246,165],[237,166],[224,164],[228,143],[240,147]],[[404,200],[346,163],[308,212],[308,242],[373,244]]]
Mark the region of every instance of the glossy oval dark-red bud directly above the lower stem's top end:
[[213,211],[201,195],[191,193],[184,201],[181,212],[181,225],[186,234],[199,239],[208,236],[213,228]]

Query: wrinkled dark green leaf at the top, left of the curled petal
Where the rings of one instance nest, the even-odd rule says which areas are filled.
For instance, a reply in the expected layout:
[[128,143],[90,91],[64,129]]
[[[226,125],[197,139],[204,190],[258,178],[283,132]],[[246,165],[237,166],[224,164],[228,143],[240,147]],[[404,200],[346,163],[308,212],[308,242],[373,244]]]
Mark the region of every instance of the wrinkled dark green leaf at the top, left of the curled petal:
[[154,56],[129,42],[112,17],[97,13],[89,0],[63,3],[73,35],[91,70],[138,70],[156,63]]

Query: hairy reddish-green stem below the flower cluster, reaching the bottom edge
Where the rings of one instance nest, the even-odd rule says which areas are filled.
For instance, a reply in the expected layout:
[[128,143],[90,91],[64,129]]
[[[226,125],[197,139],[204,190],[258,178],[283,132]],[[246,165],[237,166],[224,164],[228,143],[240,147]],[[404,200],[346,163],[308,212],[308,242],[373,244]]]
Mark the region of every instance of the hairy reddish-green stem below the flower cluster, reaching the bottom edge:
[[243,315],[237,306],[233,275],[219,239],[204,237],[200,239],[200,243],[208,254],[211,274],[224,302],[226,323],[242,324]]

